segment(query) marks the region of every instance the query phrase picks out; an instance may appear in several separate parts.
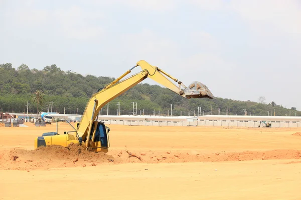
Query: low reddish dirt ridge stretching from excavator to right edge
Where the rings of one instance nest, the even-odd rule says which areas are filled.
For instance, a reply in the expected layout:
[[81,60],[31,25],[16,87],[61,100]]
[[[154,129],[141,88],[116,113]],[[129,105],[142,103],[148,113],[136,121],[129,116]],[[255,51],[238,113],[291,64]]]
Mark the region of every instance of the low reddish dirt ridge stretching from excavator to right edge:
[[114,153],[114,157],[119,157],[119,162],[217,162],[217,161],[245,161],[253,159],[301,159],[301,150],[294,149],[275,149],[267,151],[242,151],[242,152],[214,152],[202,153],[194,151],[152,151],[148,152],[130,152],[138,156],[129,156],[128,152],[120,151]]

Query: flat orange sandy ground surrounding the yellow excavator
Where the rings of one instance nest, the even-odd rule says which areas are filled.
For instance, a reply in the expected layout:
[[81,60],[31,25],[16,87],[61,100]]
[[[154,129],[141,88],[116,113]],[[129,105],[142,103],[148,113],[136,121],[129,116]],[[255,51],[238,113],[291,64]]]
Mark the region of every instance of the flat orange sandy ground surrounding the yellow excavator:
[[0,199],[301,198],[301,128],[108,125],[109,152],[93,153],[34,149],[56,124],[26,125],[0,127]]

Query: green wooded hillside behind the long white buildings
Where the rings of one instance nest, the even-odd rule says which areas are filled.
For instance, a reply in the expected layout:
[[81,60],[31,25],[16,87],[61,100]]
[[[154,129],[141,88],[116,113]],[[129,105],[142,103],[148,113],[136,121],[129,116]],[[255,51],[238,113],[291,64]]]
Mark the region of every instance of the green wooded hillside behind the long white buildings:
[[[61,70],[56,64],[45,66],[42,70],[30,69],[26,64],[15,68],[11,63],[0,64],[0,112],[29,113],[52,111],[60,113],[82,114],[91,95],[103,88],[115,78],[106,76],[83,76],[71,70]],[[42,92],[43,100],[35,98],[37,91]],[[109,114],[117,114],[118,102],[120,114],[132,114],[133,103],[137,103],[137,114],[170,115],[171,104],[173,115],[297,115],[301,112],[295,107],[285,108],[281,104],[264,102],[239,101],[228,98],[186,99],[168,88],[159,85],[139,83],[117,98],[110,101]],[[49,110],[48,110],[49,108]],[[219,111],[218,111],[219,109]],[[102,114],[107,114],[107,105]]]

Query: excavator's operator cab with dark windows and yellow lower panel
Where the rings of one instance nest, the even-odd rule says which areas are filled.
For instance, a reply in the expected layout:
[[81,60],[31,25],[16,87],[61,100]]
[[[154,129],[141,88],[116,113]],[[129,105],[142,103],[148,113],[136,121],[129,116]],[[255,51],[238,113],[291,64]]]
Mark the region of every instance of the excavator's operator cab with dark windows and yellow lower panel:
[[106,151],[104,149],[107,149],[110,146],[108,132],[109,132],[108,127],[106,127],[103,123],[100,122],[97,123],[97,128],[95,131],[95,136],[93,138],[93,144],[92,144],[92,148],[94,148],[94,150]]

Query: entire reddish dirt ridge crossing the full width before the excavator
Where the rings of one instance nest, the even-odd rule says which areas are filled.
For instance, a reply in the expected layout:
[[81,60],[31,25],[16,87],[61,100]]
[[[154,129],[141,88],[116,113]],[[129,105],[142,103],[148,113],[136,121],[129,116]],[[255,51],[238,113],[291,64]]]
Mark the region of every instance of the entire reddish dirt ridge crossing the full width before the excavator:
[[201,151],[129,151],[111,150],[91,152],[78,144],[68,147],[51,145],[39,147],[35,150],[14,148],[11,151],[0,152],[0,169],[48,169],[57,167],[85,167],[97,164],[119,163],[160,163],[160,162],[218,162],[218,161],[245,161],[253,159],[301,159],[301,150],[274,149],[267,151],[242,152],[212,152]]

